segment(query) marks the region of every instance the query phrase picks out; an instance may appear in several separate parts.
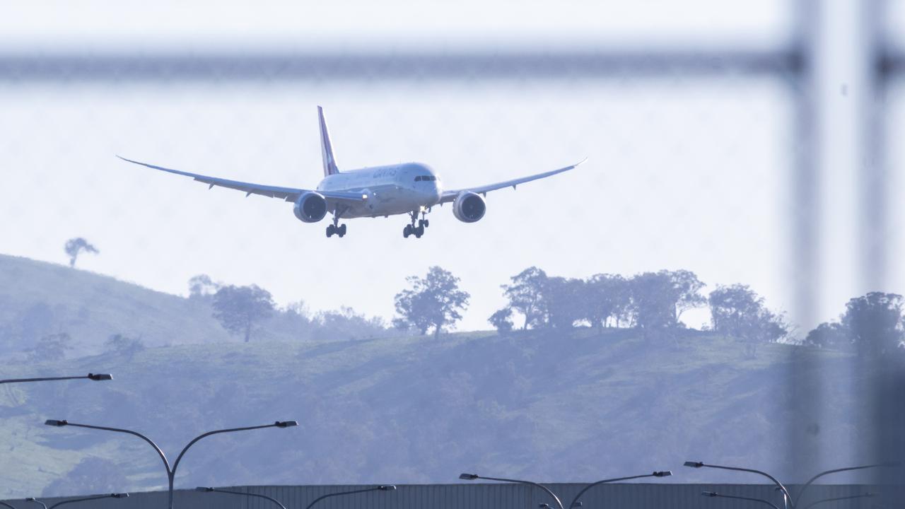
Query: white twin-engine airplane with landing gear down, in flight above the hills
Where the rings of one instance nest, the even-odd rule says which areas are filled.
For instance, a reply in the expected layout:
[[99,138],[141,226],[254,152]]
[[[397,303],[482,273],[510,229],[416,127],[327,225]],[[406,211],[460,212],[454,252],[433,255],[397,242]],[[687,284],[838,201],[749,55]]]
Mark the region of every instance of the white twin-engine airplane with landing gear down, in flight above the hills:
[[[576,168],[587,160],[585,158],[565,168],[528,177],[513,178],[496,184],[444,190],[442,180],[437,173],[423,163],[409,162],[339,171],[336,158],[333,157],[333,145],[330,143],[327,121],[324,120],[324,110],[320,106],[318,106],[318,120],[324,178],[318,187],[313,189],[264,186],[226,178],[208,177],[178,169],[163,168],[122,156],[117,157],[148,168],[194,178],[207,184],[208,188],[229,187],[244,191],[245,197],[262,195],[281,198],[294,204],[292,211],[304,223],[317,223],[329,212],[333,216],[333,224],[327,226],[328,238],[333,235],[338,237],[346,235],[346,224],[339,225],[340,219],[388,217],[401,214],[406,214],[411,219],[403,229],[403,236],[408,238],[410,235],[414,235],[415,238],[420,238],[421,235],[424,235],[424,228],[430,226],[427,214],[432,207],[450,202],[452,202],[452,215],[456,219],[465,223],[474,223],[480,220],[487,211],[484,197],[487,197],[488,192],[505,187],[515,189],[519,184],[538,178],[547,178]],[[415,226],[416,223],[417,226]]]

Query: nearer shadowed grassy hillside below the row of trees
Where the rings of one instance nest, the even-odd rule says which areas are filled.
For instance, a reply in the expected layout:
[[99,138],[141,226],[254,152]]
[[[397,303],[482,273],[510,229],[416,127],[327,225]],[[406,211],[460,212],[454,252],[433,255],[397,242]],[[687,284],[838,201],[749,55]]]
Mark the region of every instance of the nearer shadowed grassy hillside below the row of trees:
[[[45,418],[138,429],[170,456],[205,430],[299,420],[199,443],[180,467],[181,486],[447,482],[469,470],[576,480],[659,468],[687,482],[700,475],[680,468],[690,458],[782,473],[776,423],[800,376],[788,370],[792,348],[766,345],[744,359],[735,341],[702,333],[662,345],[631,331],[528,331],[197,344],[131,361],[105,354],[3,366],[3,377],[110,370],[116,379],[0,389],[0,497],[52,495],[88,457],[103,460],[92,478],[124,476],[116,489],[165,482],[138,439],[44,427]],[[822,358],[823,369],[843,362],[805,355]],[[823,433],[844,437],[851,426],[841,411]]]

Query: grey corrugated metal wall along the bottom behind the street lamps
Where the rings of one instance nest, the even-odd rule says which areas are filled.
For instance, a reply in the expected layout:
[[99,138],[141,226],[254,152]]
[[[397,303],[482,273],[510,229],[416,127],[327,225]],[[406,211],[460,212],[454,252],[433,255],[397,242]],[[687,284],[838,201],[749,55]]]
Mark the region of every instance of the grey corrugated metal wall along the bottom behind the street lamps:
[[[568,505],[585,484],[548,485]],[[243,493],[268,495],[289,509],[304,509],[320,495],[353,491],[372,485],[308,485],[308,486],[234,486],[224,489]],[[796,493],[795,487],[790,490]],[[859,495],[877,492],[876,488],[862,485],[814,485],[808,500]],[[773,485],[677,485],[677,484],[617,484],[599,485],[582,497],[585,509],[755,509],[767,507],[742,500],[710,498],[702,491],[716,491],[725,495],[748,496],[773,501],[782,507],[781,498]],[[62,498],[46,499],[56,503]],[[8,500],[17,509],[35,509],[38,505],[23,500]],[[806,501],[805,501],[806,502]],[[398,485],[396,491],[375,491],[357,495],[329,497],[321,501],[317,509],[536,509],[538,504],[553,505],[549,496],[528,485],[509,484],[457,484],[457,485]],[[836,502],[823,504],[826,509],[872,507],[875,504]],[[176,492],[176,508],[192,509],[273,509],[270,501],[250,496],[199,493],[188,490]],[[92,509],[161,509],[167,506],[166,492],[132,494],[126,499],[108,499],[84,504],[67,504],[67,509],[77,507]],[[895,505],[898,507],[899,505]],[[799,509],[803,509],[800,505]]]

